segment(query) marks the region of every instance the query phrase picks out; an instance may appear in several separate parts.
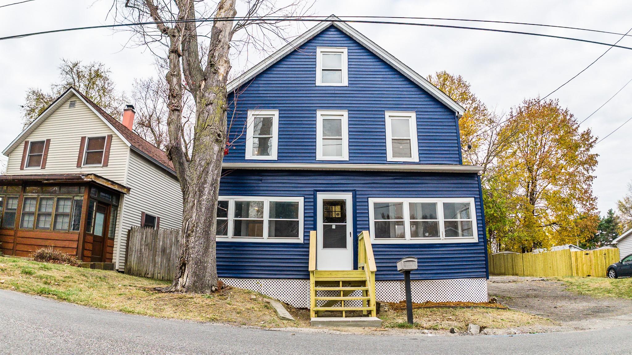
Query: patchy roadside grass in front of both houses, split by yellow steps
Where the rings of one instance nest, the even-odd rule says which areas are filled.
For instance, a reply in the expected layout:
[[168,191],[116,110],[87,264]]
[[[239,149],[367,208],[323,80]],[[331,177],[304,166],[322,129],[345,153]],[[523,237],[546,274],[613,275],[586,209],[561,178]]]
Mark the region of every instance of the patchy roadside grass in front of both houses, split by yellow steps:
[[[0,289],[8,289],[102,310],[158,318],[251,325],[262,328],[309,327],[309,311],[291,307],[295,322],[279,320],[257,292],[230,287],[217,294],[164,294],[154,287],[169,282],[90,270],[67,265],[33,262],[0,256]],[[255,298],[253,299],[253,296]],[[415,326],[428,330],[465,330],[468,323],[487,328],[552,325],[526,313],[482,308],[422,308],[414,311]],[[379,314],[386,328],[409,328],[406,311]],[[337,328],[344,330],[342,328]]]

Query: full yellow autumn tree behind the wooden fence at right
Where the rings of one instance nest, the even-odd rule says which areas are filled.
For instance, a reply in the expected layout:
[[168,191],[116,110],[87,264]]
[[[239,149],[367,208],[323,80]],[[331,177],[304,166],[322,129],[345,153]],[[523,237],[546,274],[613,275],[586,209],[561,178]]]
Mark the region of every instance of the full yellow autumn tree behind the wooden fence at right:
[[557,100],[537,98],[510,112],[499,140],[507,145],[497,157],[497,187],[490,188],[504,188],[500,195],[514,222],[504,231],[511,235],[504,249],[525,252],[592,237],[599,215],[590,129],[582,131]]

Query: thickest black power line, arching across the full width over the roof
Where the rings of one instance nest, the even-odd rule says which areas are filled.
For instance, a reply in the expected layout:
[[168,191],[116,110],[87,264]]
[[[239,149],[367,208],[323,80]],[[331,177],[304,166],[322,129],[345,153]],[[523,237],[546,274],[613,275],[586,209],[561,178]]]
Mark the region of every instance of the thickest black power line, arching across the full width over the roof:
[[[87,27],[74,27],[74,28],[63,28],[59,30],[49,30],[42,32],[32,32],[32,33],[23,33],[21,35],[11,35],[6,37],[0,37],[0,40],[7,39],[18,39],[29,37],[33,35],[43,35],[47,33],[58,33],[58,32],[68,32],[68,31],[77,31],[77,30],[91,30],[97,28],[118,28],[118,27],[133,27],[133,26],[142,26],[142,25],[155,25],[157,23],[197,23],[197,22],[212,22],[212,21],[240,21],[240,20],[267,20],[267,21],[296,21],[296,22],[322,22],[325,20],[315,19],[315,18],[292,18],[292,17],[284,17],[284,16],[261,16],[258,18],[250,18],[250,17],[234,17],[234,18],[198,18],[191,20],[165,20],[165,21],[145,21],[145,22],[133,22],[133,23],[118,23],[114,25],[100,25],[100,26],[87,26]],[[454,25],[438,25],[434,23],[415,23],[415,22],[399,22],[399,21],[372,21],[372,20],[337,20],[331,19],[326,20],[330,22],[350,22],[350,23],[376,23],[380,25],[411,25],[411,26],[423,26],[423,27],[439,27],[439,28],[458,28],[463,30],[478,30],[478,31],[488,31],[488,32],[501,32],[501,33],[513,33],[520,35],[533,35],[539,37],[549,37],[556,39],[566,39],[566,40],[574,40],[578,42],[586,42],[592,44],[600,44],[600,45],[608,45],[611,47],[623,48],[623,49],[632,49],[632,47],[626,47],[624,45],[617,44],[609,44],[605,42],[599,42],[596,40],[587,40],[587,39],[579,39],[576,37],[564,37],[557,35],[547,35],[544,33],[533,33],[533,32],[523,32],[523,31],[511,31],[511,30],[498,30],[495,28],[482,28],[482,27],[466,27],[466,26],[454,26]],[[618,42],[617,42],[618,43]]]

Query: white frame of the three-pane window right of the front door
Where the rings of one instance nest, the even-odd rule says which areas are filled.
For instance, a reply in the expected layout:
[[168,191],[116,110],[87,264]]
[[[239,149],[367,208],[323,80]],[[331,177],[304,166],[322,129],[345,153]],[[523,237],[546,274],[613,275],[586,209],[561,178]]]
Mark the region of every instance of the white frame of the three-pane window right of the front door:
[[[375,202],[397,202],[403,203],[404,214],[404,239],[398,238],[375,238],[375,216],[374,216],[374,203]],[[430,202],[437,203],[437,217],[439,218],[439,236],[440,238],[411,238],[410,236],[410,210],[408,203],[415,202]],[[458,238],[446,238],[444,217],[443,217],[443,203],[444,202],[466,202],[470,203],[470,214],[472,221],[473,236],[471,237],[458,237]],[[371,236],[372,243],[375,244],[442,244],[442,243],[478,243],[478,224],[477,224],[477,212],[474,198],[369,198],[368,199],[368,220],[369,220],[369,234]]]

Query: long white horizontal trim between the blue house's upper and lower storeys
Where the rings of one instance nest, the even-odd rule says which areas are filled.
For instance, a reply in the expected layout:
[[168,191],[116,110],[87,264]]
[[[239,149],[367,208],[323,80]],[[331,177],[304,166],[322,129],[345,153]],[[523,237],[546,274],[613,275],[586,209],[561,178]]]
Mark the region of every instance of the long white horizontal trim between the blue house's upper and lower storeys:
[[263,170],[348,170],[348,171],[416,171],[416,172],[480,172],[473,165],[439,164],[348,164],[348,163],[222,163],[222,169]]

